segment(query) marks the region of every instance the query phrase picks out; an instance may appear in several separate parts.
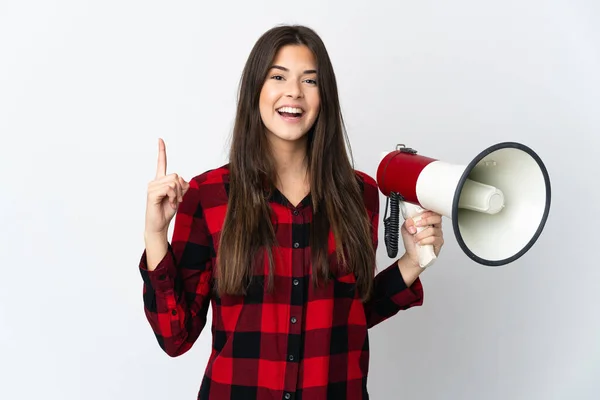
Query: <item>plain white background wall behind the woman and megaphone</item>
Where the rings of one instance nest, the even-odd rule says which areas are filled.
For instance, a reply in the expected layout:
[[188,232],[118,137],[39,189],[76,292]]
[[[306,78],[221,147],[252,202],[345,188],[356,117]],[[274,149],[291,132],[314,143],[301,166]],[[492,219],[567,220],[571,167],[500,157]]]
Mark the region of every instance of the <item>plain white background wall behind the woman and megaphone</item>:
[[445,220],[425,304],[371,331],[372,398],[600,398],[599,17],[595,0],[1,1],[2,398],[195,398],[209,330],[172,359],[143,314],[146,185],[158,137],[168,172],[225,162],[244,62],[280,23],[325,41],[356,168],[396,143],[465,164],[514,140],[552,180],[546,229],[508,266],[470,261]]

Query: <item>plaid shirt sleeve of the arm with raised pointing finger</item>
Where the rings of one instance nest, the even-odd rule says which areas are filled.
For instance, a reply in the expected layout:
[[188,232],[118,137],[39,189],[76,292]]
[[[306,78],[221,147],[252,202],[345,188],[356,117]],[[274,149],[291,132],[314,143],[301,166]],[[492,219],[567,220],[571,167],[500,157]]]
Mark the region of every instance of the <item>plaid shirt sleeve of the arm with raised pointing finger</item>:
[[146,250],[139,262],[146,318],[160,347],[171,357],[188,351],[206,325],[212,255],[199,184],[191,180],[175,214],[167,253],[153,271],[148,270]]

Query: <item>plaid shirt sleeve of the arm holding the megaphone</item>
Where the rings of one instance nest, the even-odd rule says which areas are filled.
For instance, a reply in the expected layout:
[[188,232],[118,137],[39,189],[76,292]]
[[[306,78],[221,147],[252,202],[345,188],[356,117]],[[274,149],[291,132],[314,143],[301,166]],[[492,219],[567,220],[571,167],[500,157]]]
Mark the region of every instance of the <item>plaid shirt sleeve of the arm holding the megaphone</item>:
[[[377,250],[379,238],[379,188],[370,176],[363,174],[363,195],[371,219],[373,246]],[[400,273],[398,261],[375,275],[373,291],[364,303],[368,328],[396,315],[399,311],[423,304],[423,285],[417,278],[410,287],[406,286]]]

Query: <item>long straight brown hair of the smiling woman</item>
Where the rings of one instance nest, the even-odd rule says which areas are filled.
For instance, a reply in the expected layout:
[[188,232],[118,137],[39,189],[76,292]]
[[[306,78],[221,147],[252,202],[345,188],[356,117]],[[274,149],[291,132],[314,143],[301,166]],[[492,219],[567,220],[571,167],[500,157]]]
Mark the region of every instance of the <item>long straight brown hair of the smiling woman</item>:
[[219,239],[216,290],[219,294],[244,294],[255,266],[251,260],[264,255],[271,268],[276,238],[271,223],[265,183],[276,182],[276,169],[265,127],[259,113],[259,97],[271,63],[286,45],[305,45],[317,61],[320,111],[307,133],[307,159],[313,221],[310,247],[313,283],[329,278],[328,236],[333,232],[340,265],[353,272],[363,299],[371,291],[375,250],[365,210],[361,183],[351,163],[350,144],[344,128],[335,74],[325,45],[312,29],[278,26],[256,42],[242,73],[237,115],[229,155],[229,203]]

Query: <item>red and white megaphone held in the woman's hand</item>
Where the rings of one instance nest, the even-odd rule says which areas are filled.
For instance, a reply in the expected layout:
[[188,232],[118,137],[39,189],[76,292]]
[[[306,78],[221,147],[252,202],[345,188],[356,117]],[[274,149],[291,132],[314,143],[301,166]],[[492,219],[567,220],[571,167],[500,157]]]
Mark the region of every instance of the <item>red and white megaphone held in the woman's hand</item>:
[[[467,165],[419,155],[404,144],[383,152],[377,168],[379,190],[387,197],[385,244],[397,252],[399,209],[404,218],[418,219],[431,210],[452,221],[462,251],[485,266],[511,263],[539,238],[550,211],[548,171],[529,147],[498,143],[477,154]],[[419,228],[419,231],[424,228]],[[436,260],[431,245],[418,246],[419,263]]]

